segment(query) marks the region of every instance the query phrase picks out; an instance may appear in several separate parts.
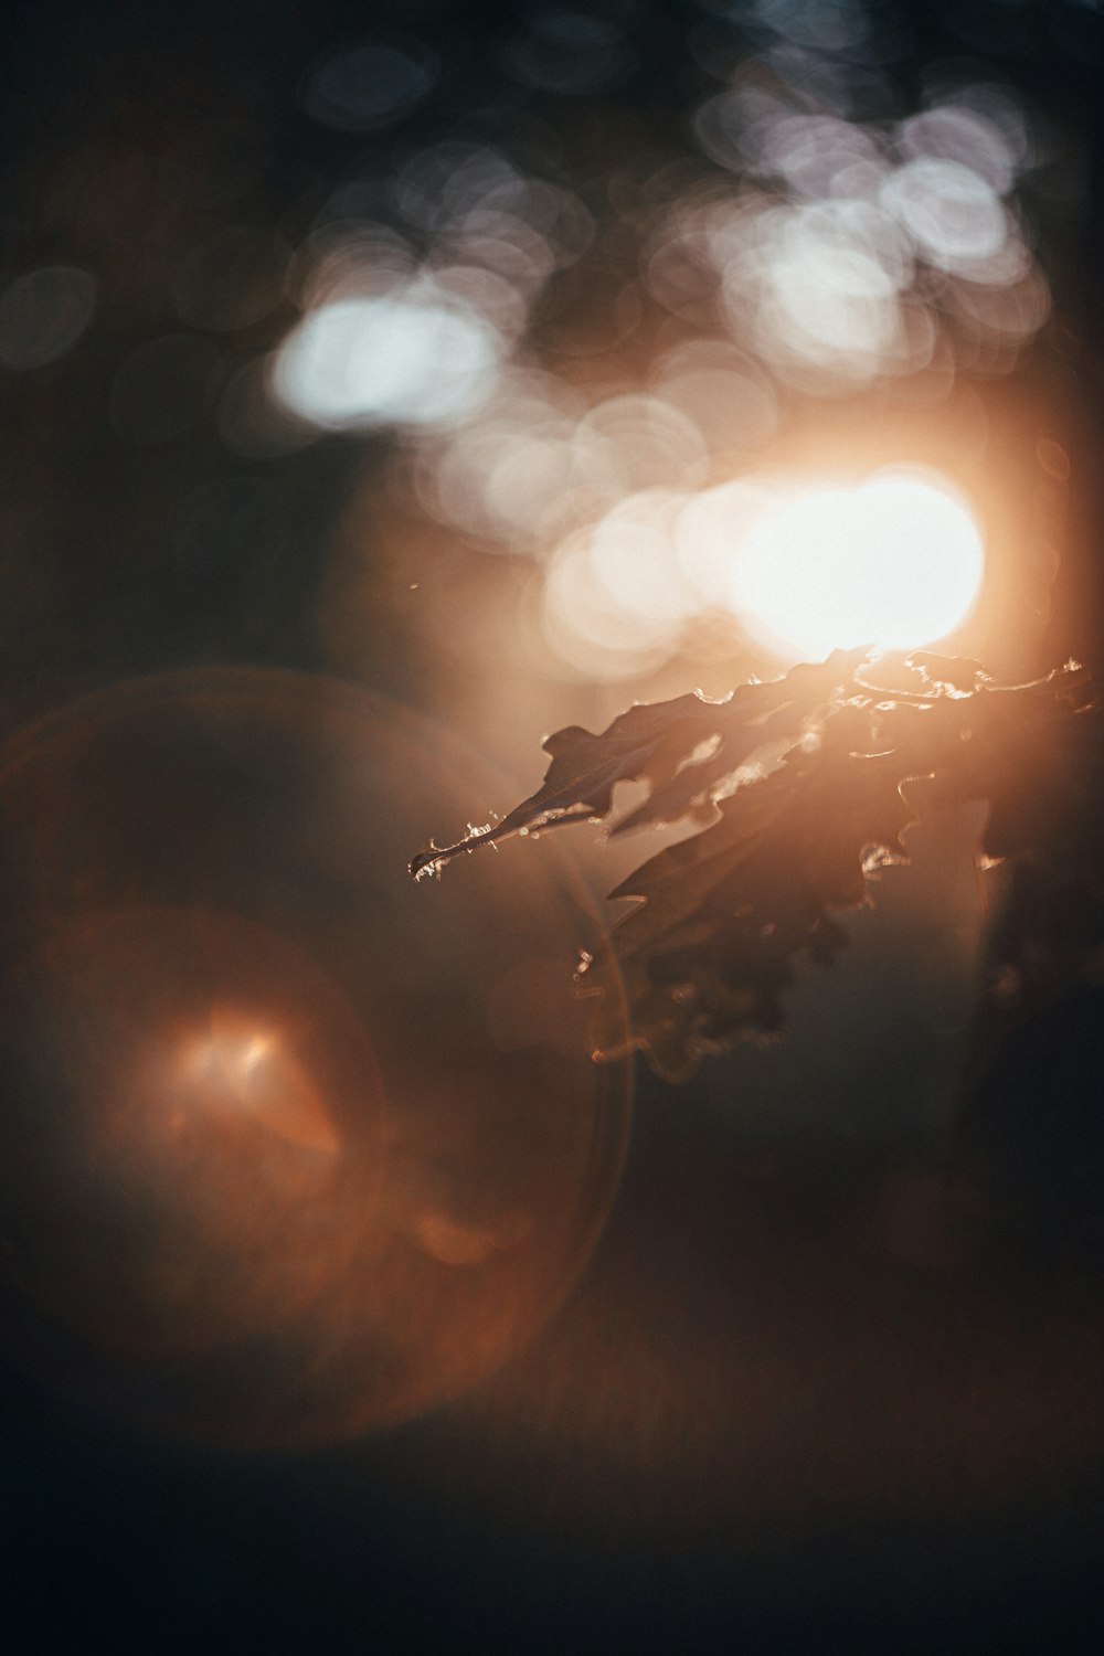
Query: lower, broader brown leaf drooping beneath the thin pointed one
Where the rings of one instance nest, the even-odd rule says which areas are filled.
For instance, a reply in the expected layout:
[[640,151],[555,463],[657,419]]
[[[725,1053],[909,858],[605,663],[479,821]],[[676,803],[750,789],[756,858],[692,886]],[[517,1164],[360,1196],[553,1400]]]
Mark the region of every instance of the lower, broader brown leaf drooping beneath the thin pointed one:
[[[637,898],[579,984],[601,995],[596,1057],[641,1047],[669,1080],[740,1035],[775,1035],[804,952],[829,964],[834,909],[866,899],[871,858],[902,858],[914,815],[892,755],[794,753],[738,788],[720,821],[660,851],[614,898]],[[614,1017],[617,985],[631,1033]]]

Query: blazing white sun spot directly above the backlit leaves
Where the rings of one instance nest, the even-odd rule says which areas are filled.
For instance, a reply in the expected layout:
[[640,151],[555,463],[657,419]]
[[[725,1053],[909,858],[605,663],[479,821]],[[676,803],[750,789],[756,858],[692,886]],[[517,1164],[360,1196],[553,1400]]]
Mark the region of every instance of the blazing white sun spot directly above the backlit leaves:
[[730,603],[781,654],[915,649],[967,619],[983,571],[978,525],[955,490],[886,472],[766,510],[733,560]]

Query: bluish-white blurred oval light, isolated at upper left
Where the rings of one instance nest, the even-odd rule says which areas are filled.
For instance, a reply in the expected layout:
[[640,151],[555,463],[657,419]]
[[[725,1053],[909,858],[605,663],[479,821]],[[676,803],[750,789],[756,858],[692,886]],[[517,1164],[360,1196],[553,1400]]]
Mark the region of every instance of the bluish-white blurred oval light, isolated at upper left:
[[500,359],[493,328],[470,308],[420,286],[338,300],[285,339],[273,391],[313,426],[447,426],[492,391]]

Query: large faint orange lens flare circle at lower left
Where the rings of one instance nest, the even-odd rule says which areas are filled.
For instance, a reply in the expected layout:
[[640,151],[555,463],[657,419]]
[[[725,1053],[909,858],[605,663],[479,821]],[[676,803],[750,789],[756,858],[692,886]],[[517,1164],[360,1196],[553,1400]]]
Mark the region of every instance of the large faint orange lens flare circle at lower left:
[[10,744],[8,1356],[144,1429],[285,1449],[455,1398],[543,1325],[627,1129],[571,990],[586,899],[554,845],[406,873],[511,792],[396,705],[260,669]]

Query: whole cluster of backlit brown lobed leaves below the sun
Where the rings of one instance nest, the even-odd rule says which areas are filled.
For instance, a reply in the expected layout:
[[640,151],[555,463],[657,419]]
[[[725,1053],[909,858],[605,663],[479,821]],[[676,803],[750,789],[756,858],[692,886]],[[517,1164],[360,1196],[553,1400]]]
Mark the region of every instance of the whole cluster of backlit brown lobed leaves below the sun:
[[[902,831],[929,808],[988,800],[990,859],[1046,856],[1061,840],[1084,879],[1104,884],[1104,798],[1082,808],[1089,787],[1104,790],[1104,709],[1084,667],[995,686],[975,661],[922,654],[910,657],[922,687],[900,691],[861,677],[866,659],[838,651],[725,702],[682,696],[632,707],[599,735],[559,730],[531,798],[495,828],[430,845],[412,873],[510,833],[606,816],[622,780],[650,787],[614,833],[703,820],[611,893],[634,907],[576,977],[596,997],[594,1057],[641,1048],[669,1080],[740,1037],[781,1030],[796,964],[834,962],[846,941],[836,914],[867,901],[876,864],[905,859]],[[768,750],[775,768],[748,780],[742,767]]]

